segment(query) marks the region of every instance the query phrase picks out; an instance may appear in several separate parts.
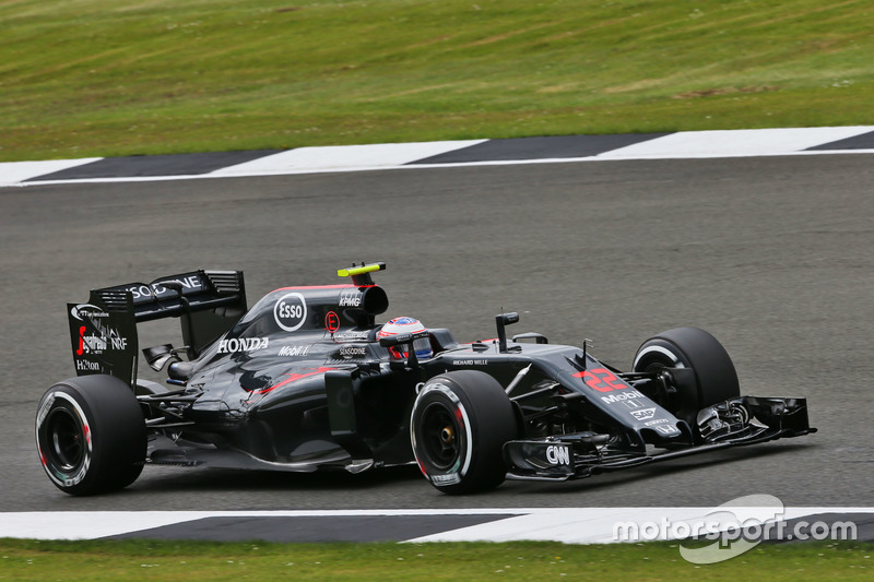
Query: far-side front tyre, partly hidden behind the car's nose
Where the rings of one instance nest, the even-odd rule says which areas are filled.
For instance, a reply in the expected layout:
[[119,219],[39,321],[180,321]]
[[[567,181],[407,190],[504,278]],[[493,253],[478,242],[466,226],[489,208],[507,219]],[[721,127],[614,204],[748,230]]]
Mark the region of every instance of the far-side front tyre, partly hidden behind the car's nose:
[[638,348],[634,371],[689,368],[694,380],[677,387],[662,405],[674,416],[697,425],[698,411],[741,395],[737,372],[719,341],[698,328],[677,328],[650,337]]

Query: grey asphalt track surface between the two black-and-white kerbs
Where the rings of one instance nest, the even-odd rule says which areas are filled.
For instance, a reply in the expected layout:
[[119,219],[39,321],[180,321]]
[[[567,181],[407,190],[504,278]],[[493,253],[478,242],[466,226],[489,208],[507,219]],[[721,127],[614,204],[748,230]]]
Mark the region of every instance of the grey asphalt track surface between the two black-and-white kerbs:
[[[871,155],[404,169],[0,190],[0,511],[874,506]],[[805,396],[808,437],[565,484],[448,497],[411,467],[357,476],[146,467],[128,489],[58,491],[36,404],[73,376],[64,305],[88,289],[243,269],[250,304],[386,261],[391,307],[462,341],[593,341],[628,367],[650,335],[709,330],[742,391]],[[141,345],[163,343],[150,324]],[[178,343],[178,340],[177,340]]]

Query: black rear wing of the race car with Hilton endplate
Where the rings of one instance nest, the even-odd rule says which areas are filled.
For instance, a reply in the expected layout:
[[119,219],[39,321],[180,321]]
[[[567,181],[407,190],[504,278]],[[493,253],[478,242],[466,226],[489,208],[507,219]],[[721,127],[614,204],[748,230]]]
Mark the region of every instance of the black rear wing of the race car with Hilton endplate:
[[179,318],[189,358],[246,313],[241,271],[192,271],[93,289],[87,304],[68,304],[73,364],[79,376],[107,373],[133,385],[137,323]]

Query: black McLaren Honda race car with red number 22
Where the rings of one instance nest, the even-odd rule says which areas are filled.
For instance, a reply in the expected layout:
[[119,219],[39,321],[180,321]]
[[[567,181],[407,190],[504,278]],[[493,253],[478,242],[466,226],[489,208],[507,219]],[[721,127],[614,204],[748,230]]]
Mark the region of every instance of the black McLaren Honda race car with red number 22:
[[[145,464],[358,473],[415,462],[437,489],[465,494],[816,430],[804,399],[742,396],[729,355],[702,330],[647,340],[628,371],[587,343],[508,338],[516,313],[496,317],[493,338],[459,343],[410,318],[377,323],[389,301],[371,274],[382,269],[276,289],[251,309],[238,271],[68,305],[79,376],[51,387],[36,416],[49,478],[90,495],[130,485]],[[180,320],[185,345],[142,352],[169,388],[137,376],[137,326],[161,318]]]

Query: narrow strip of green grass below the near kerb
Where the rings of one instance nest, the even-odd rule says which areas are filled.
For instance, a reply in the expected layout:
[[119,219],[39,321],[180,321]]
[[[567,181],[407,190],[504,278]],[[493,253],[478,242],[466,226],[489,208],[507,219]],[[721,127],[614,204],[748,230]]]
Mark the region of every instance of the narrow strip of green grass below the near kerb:
[[0,539],[0,580],[871,580],[874,546],[760,545],[694,566],[675,543],[213,544]]

